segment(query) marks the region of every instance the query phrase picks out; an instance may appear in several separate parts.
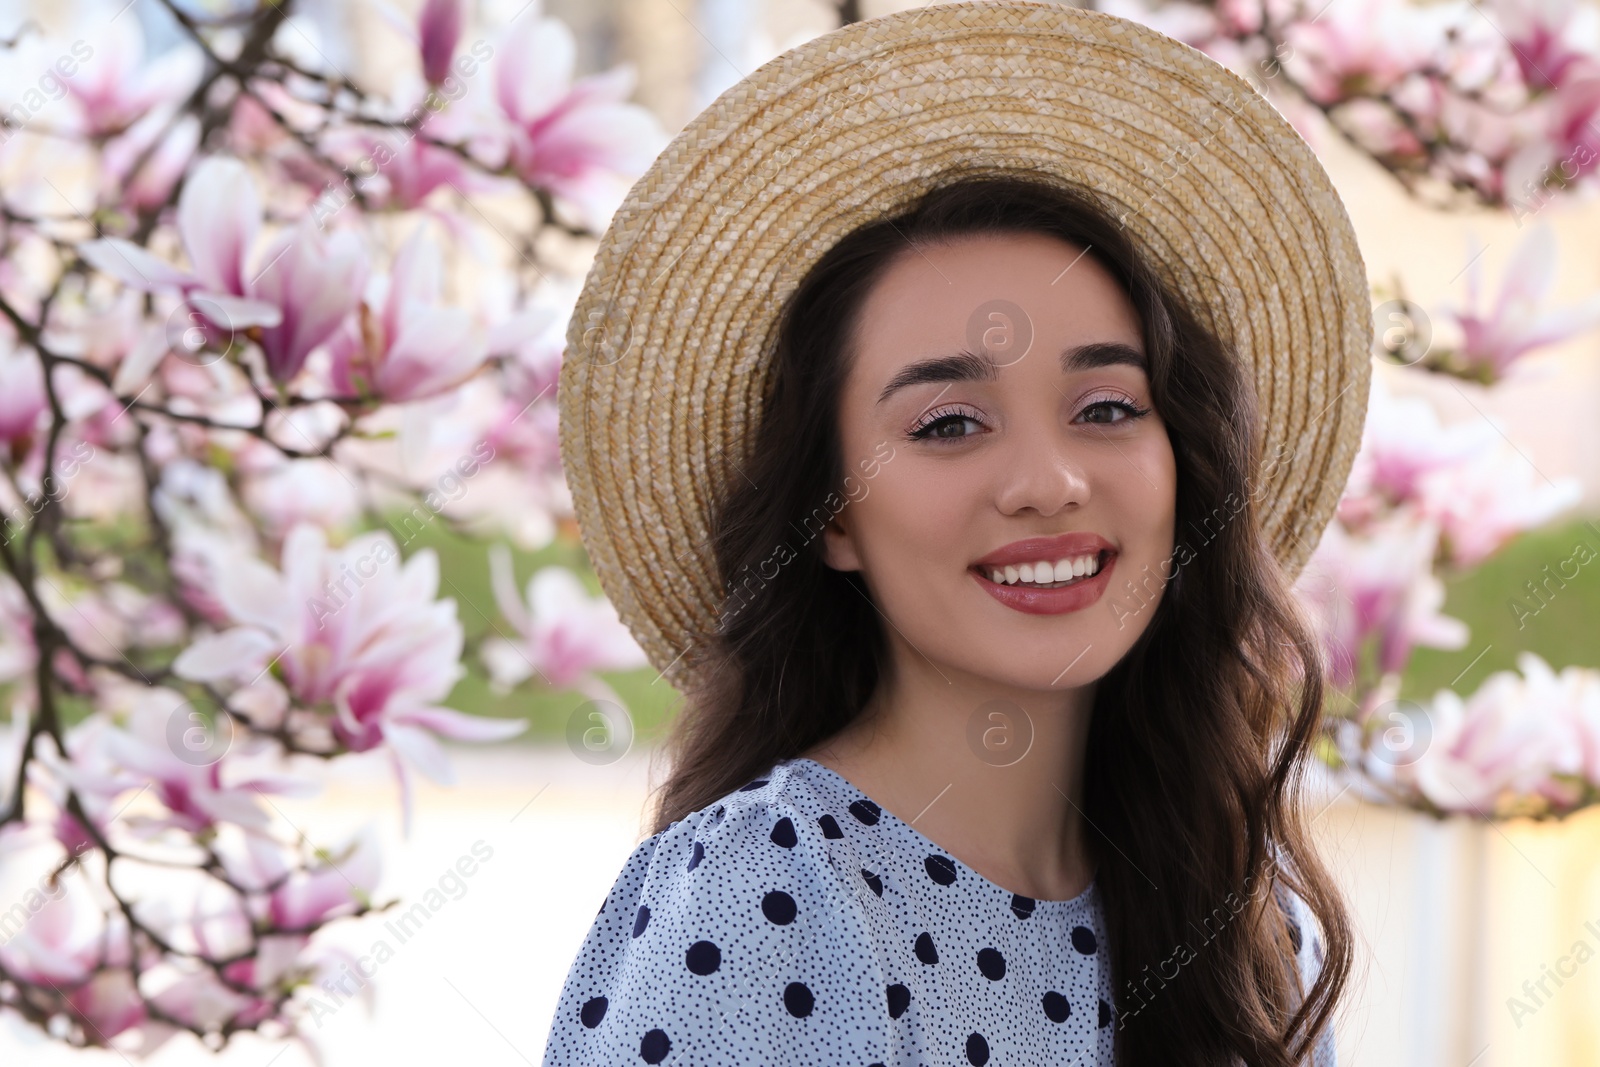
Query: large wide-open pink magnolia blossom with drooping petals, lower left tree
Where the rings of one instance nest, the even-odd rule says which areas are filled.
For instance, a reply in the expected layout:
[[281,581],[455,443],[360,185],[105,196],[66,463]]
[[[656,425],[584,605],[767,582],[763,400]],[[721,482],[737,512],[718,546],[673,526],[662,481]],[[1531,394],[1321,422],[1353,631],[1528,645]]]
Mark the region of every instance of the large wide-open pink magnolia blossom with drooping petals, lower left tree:
[[190,645],[173,670],[200,681],[250,681],[277,667],[296,704],[328,715],[339,744],[352,752],[389,747],[410,832],[411,781],[400,755],[450,784],[434,733],[501,741],[528,723],[438,705],[462,673],[462,632],[456,603],[434,598],[438,558],[430,549],[402,563],[387,531],[330,549],[318,526],[301,523],[282,555],[282,569],[240,558],[216,574],[216,597],[235,625]]

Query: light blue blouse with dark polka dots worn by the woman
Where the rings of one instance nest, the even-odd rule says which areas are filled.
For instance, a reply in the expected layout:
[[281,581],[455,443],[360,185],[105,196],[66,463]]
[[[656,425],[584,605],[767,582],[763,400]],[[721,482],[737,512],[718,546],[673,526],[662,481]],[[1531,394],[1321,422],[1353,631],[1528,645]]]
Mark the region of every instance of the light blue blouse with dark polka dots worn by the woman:
[[[1096,893],[1003,889],[830,768],[786,760],[634,849],[542,1067],[1109,1065]],[[1315,920],[1280,901],[1309,984]],[[1333,1067],[1331,1032],[1312,1064]]]

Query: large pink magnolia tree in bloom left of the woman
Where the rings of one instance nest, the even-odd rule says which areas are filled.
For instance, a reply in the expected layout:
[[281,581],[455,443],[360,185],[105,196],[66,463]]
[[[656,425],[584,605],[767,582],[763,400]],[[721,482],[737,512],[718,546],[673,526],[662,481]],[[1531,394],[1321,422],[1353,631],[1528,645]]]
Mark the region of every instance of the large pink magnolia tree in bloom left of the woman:
[[502,545],[466,648],[411,542],[570,522],[578,278],[544,238],[597,234],[666,134],[632,69],[574,82],[538,10],[477,38],[459,3],[389,11],[406,69],[378,93],[286,3],[170,3],[160,56],[115,6],[21,27],[5,64],[0,1006],[134,1054],[312,1045],[326,1001],[299,993],[355,963],[318,931],[387,904],[370,830],[320,841],[275,798],[376,753],[410,833],[438,737],[526,725],[443,704],[464,659],[613,701],[595,672],[645,662],[571,571],[518,590]]

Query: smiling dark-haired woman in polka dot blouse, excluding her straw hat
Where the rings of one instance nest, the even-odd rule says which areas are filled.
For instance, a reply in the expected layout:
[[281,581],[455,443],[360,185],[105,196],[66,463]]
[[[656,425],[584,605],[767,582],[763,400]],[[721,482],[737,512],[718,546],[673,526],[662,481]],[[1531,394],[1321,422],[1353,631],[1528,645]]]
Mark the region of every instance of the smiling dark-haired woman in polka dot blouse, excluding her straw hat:
[[[706,478],[725,577],[654,832],[546,1064],[1333,1062],[1352,937],[1294,790],[1322,665],[1304,557],[1267,536],[1306,456],[1261,446],[1245,355],[1154,242],[1024,170],[944,171],[771,320],[744,458]],[[563,368],[563,454],[606,352]],[[574,466],[574,499],[605,498]],[[616,581],[619,541],[597,568],[666,662],[642,605],[667,593]]]

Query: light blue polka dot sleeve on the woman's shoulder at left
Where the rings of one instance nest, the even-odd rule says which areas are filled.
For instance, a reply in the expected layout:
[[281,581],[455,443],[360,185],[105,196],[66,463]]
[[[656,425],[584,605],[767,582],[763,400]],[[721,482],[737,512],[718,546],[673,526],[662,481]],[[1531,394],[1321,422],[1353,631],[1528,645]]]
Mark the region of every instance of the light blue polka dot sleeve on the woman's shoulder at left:
[[882,1049],[861,904],[805,800],[774,779],[634,848],[568,971],[546,1065]]

